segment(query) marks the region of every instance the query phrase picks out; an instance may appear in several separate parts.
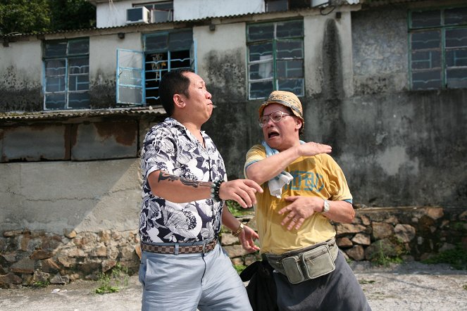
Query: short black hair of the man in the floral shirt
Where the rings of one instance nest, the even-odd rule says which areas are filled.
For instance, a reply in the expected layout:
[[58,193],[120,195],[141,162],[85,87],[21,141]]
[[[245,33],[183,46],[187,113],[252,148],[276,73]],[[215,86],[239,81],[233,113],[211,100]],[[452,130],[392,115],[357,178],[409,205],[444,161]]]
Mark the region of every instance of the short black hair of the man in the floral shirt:
[[175,109],[173,96],[175,94],[189,96],[189,78],[185,76],[186,72],[194,71],[191,68],[170,70],[162,76],[161,82],[159,83],[159,101],[162,103],[169,117],[173,114],[173,110]]

